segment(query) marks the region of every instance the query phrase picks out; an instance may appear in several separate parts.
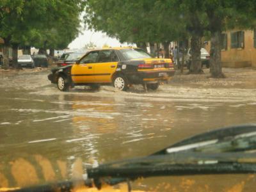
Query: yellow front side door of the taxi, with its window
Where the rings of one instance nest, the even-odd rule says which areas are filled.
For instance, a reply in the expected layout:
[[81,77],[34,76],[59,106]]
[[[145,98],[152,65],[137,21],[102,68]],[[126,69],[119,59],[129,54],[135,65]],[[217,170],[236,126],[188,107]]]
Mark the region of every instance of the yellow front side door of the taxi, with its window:
[[71,76],[74,83],[94,83],[95,65],[99,51],[86,54],[78,64],[72,66]]

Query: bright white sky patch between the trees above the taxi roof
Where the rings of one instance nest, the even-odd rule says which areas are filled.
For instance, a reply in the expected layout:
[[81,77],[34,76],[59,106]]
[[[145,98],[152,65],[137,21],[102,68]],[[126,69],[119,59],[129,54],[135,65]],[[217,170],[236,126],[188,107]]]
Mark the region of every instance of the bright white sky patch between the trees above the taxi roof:
[[102,48],[104,44],[109,45],[109,47],[120,47],[120,45],[127,46],[127,44],[120,44],[116,38],[110,38],[106,33],[84,29],[82,33],[80,33],[79,36],[68,45],[68,48],[82,49],[84,45],[89,42],[93,42],[98,48]]

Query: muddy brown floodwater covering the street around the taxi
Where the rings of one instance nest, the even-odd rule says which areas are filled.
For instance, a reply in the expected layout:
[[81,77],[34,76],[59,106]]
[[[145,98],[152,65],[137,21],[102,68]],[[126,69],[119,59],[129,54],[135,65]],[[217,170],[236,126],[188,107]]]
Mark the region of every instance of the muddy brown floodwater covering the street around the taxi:
[[[147,93],[142,86],[131,92],[111,86],[60,92],[47,74],[0,77],[0,187],[70,179],[76,159],[85,170],[147,156],[201,132],[255,122],[253,89],[164,84]],[[252,183],[254,175],[205,175],[133,185],[146,191],[255,191]]]

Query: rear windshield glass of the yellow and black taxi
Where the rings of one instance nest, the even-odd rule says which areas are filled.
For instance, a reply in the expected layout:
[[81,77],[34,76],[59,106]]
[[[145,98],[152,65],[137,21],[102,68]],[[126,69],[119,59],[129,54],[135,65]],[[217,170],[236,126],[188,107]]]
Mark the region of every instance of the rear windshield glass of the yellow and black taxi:
[[126,60],[151,58],[151,56],[142,49],[120,49],[120,52],[122,52]]

